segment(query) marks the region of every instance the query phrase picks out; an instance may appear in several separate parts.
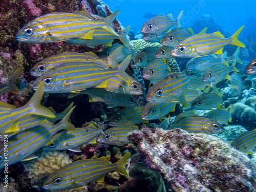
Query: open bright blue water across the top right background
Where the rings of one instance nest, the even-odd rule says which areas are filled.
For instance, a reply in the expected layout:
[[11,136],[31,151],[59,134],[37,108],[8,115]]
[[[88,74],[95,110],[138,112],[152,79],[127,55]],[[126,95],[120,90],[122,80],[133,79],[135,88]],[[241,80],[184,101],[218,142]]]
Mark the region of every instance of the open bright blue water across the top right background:
[[[190,27],[193,20],[200,18],[201,14],[208,14],[230,34],[236,32],[242,25],[246,25],[242,34],[251,33],[256,30],[256,1],[221,1],[221,0],[104,0],[112,11],[121,9],[118,20],[126,27],[132,25],[135,33],[139,32],[143,23],[145,13],[173,14],[176,18],[183,10],[181,20],[182,28]],[[201,29],[200,29],[201,30]]]

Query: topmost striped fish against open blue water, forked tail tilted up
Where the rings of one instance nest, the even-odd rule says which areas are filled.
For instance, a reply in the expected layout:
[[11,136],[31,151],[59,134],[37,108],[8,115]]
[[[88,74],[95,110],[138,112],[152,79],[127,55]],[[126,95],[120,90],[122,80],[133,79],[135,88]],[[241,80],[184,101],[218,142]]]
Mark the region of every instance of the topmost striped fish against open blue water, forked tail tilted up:
[[167,16],[156,15],[143,24],[141,32],[148,34],[161,34],[167,32],[175,25],[177,27],[180,27],[180,19],[182,17],[182,14],[183,11],[180,12],[176,20],[174,20],[172,14],[168,14]]

